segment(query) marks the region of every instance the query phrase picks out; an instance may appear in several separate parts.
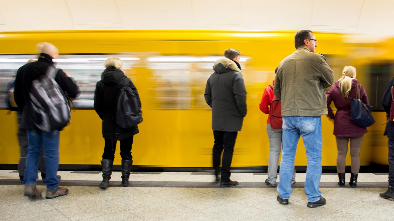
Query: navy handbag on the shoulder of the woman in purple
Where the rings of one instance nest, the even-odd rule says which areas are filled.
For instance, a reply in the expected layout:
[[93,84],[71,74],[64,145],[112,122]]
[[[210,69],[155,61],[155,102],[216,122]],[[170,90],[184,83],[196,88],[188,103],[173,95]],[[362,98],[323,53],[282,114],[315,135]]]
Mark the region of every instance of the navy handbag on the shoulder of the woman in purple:
[[372,106],[360,100],[360,90],[357,84],[357,99],[350,99],[350,121],[362,127],[369,127],[375,123],[372,117]]

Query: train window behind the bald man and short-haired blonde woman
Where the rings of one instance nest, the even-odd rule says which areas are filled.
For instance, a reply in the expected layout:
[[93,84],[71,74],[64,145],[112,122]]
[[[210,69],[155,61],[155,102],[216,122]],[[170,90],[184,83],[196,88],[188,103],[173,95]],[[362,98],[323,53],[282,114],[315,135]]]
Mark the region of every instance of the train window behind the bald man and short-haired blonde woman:
[[[105,69],[104,61],[108,57],[122,59],[125,62],[124,69],[130,69],[133,64],[139,62],[139,58],[132,55],[59,55],[58,59],[54,59],[56,67],[67,71],[80,87],[81,94],[73,101],[75,108],[93,108],[96,83],[101,79],[101,73]],[[36,58],[37,55],[0,55],[0,108],[6,108],[4,98],[8,82],[29,59]]]

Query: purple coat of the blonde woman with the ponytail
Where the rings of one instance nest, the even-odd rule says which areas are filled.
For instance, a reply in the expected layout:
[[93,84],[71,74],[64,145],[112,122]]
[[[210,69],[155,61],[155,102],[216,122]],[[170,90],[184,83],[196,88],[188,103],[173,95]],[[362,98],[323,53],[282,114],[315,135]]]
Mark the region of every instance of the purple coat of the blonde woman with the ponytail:
[[[334,86],[327,92],[327,110],[328,116],[334,119],[334,135],[336,137],[358,137],[368,132],[367,128],[353,124],[350,122],[350,99],[356,99],[357,97],[357,79],[352,79],[351,90],[349,92],[349,99],[342,97],[339,90],[339,80],[335,82]],[[368,103],[367,93],[365,92],[364,86],[359,85],[360,100],[364,104]],[[331,109],[331,101],[334,101],[334,105],[337,109],[335,116],[333,109]]]

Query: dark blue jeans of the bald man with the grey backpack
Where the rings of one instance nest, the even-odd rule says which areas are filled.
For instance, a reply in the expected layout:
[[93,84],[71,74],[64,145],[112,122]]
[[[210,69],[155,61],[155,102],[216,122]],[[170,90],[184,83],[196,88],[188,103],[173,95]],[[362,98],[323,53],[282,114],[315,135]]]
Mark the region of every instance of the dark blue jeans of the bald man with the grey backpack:
[[41,157],[43,146],[45,146],[46,155],[46,189],[56,190],[59,187],[57,177],[59,169],[59,137],[58,130],[43,132],[40,130],[28,130],[29,139],[28,154],[26,159],[26,170],[24,174],[25,185],[36,184],[38,179],[38,161]]

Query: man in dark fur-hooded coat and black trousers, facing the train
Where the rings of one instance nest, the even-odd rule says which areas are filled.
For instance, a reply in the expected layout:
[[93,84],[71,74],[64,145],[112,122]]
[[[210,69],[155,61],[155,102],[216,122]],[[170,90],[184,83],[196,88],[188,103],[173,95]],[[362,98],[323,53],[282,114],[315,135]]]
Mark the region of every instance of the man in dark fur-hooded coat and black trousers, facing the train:
[[237,134],[242,129],[243,118],[247,113],[246,88],[239,63],[241,52],[230,48],[224,56],[214,63],[215,73],[206,82],[204,93],[206,103],[212,108],[212,160],[215,179],[216,182],[220,181],[220,187],[238,185],[237,181],[230,180],[230,167]]

